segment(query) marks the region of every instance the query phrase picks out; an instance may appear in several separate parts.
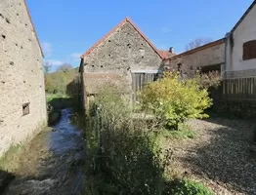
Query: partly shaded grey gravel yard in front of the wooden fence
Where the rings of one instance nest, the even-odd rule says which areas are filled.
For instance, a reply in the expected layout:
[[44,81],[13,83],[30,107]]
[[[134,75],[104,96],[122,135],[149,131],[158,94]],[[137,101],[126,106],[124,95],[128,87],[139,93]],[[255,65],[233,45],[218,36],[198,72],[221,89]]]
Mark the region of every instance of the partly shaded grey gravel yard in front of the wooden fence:
[[182,157],[183,164],[189,164],[194,175],[243,194],[256,194],[256,154],[251,151],[255,123],[212,117],[196,121],[195,129],[196,125],[205,129],[201,134],[209,134],[204,135],[209,138],[193,145],[193,152]]

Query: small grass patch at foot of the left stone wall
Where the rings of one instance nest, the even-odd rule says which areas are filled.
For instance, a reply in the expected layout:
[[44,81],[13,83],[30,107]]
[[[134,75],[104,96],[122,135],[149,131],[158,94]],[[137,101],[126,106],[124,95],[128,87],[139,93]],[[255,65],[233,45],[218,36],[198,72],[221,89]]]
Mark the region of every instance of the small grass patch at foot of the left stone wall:
[[12,145],[7,152],[0,158],[0,170],[12,171],[17,167],[16,162],[19,158],[19,152],[21,151],[22,145]]

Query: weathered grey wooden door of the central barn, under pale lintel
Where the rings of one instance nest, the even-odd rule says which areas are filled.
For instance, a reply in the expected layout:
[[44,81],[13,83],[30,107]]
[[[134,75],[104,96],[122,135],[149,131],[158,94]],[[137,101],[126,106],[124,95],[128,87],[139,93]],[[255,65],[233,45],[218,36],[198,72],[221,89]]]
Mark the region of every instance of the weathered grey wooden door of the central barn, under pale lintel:
[[159,76],[158,70],[144,70],[132,72],[132,90],[133,90],[133,102],[138,101],[138,93],[142,88],[155,81]]

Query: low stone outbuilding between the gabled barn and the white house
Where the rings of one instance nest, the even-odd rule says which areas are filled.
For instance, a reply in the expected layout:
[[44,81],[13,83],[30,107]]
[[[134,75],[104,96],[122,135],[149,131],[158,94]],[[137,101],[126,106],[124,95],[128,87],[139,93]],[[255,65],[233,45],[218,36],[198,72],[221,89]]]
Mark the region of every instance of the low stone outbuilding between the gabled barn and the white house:
[[205,72],[221,71],[224,63],[225,39],[219,39],[168,59],[166,69],[179,69],[184,75],[189,75],[197,68]]

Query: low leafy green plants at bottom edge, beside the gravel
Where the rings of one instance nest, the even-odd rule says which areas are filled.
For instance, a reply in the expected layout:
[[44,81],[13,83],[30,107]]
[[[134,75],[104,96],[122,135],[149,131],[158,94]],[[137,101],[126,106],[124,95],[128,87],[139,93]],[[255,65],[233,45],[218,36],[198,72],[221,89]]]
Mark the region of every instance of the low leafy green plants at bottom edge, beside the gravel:
[[214,193],[201,183],[192,180],[174,179],[166,182],[162,195],[213,195]]

